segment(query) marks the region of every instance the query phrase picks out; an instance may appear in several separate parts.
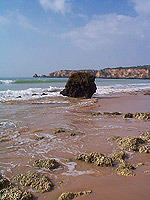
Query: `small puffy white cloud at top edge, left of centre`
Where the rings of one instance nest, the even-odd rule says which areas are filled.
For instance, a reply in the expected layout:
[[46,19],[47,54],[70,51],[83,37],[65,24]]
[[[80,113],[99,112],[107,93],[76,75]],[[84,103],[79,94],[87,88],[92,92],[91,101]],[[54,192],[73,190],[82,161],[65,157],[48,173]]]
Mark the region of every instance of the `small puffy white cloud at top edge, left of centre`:
[[39,0],[44,10],[65,14],[71,11],[71,0]]

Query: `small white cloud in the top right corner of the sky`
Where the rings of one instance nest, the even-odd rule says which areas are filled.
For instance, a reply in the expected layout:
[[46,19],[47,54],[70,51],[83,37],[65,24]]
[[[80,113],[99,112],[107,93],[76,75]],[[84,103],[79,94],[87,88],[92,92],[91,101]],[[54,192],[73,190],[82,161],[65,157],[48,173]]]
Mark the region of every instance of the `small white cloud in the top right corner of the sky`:
[[150,0],[130,0],[139,15],[150,15]]

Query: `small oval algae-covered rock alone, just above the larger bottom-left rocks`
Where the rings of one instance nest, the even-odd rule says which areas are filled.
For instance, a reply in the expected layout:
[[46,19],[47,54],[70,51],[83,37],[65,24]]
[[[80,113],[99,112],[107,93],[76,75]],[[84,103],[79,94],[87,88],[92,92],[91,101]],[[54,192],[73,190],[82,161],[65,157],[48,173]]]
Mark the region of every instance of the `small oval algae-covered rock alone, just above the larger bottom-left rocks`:
[[56,169],[59,167],[59,163],[55,159],[38,159],[34,161],[33,167]]

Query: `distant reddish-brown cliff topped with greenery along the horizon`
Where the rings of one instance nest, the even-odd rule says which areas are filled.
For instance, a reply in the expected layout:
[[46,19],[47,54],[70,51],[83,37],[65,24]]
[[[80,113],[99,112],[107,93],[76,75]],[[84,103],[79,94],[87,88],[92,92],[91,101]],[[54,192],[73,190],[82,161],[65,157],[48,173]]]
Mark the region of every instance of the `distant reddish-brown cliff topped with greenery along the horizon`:
[[[101,70],[60,70],[40,77],[68,78],[77,71],[84,71],[94,75],[96,78],[108,79],[150,79],[150,65],[137,67],[105,68]],[[37,74],[34,77],[39,77]]]

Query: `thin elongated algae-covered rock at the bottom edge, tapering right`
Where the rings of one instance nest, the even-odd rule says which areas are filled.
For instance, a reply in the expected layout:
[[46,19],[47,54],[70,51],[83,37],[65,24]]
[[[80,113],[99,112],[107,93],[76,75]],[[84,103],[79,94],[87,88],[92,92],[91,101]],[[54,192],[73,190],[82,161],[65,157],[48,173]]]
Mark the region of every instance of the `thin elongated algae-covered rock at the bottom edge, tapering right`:
[[58,200],[71,200],[71,199],[74,199],[76,197],[80,197],[82,195],[90,194],[90,193],[92,193],[91,190],[89,190],[89,191],[83,191],[83,192],[81,192],[81,191],[80,192],[63,192],[59,196]]

